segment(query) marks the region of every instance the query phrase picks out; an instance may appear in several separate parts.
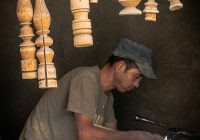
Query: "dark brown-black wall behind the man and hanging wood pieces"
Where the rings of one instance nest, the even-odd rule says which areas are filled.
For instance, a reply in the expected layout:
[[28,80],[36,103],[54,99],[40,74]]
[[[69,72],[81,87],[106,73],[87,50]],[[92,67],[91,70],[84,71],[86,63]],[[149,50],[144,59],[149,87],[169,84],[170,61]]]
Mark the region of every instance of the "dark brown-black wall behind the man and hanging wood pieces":
[[[144,2],[139,9],[144,9]],[[89,15],[94,46],[78,49],[73,46],[69,0],[46,0],[58,78],[77,66],[104,64],[120,39],[127,37],[154,50],[159,80],[144,79],[137,90],[128,94],[114,92],[118,128],[167,134],[161,127],[136,122],[134,116],[139,114],[169,127],[200,132],[200,1],[182,2],[183,9],[171,12],[167,0],[157,0],[157,22],[147,22],[144,14],[118,16],[122,6],[117,0],[99,0],[91,5]],[[38,88],[37,80],[21,79],[22,40],[18,38],[16,5],[17,0],[1,0],[0,5],[2,140],[18,139],[28,115],[45,92]]]

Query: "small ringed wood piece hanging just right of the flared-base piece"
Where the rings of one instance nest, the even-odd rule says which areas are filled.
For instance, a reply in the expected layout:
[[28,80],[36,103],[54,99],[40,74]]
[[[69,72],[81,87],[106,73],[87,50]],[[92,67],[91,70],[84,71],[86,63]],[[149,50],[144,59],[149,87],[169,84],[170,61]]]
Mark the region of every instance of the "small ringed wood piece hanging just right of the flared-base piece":
[[159,13],[157,6],[158,4],[155,0],[148,0],[145,4],[145,9],[143,12],[145,13],[145,20],[147,21],[156,21],[156,14]]

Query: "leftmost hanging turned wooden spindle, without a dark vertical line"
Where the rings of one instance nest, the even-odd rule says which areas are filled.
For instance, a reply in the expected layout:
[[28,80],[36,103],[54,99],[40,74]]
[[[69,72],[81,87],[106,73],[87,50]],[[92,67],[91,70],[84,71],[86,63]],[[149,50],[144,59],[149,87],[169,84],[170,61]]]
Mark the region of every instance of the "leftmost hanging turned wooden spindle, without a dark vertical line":
[[33,7],[30,0],[18,0],[17,18],[22,28],[19,37],[23,40],[20,46],[22,79],[37,78],[37,60],[35,59],[36,47],[31,41],[33,30],[30,27],[33,19]]

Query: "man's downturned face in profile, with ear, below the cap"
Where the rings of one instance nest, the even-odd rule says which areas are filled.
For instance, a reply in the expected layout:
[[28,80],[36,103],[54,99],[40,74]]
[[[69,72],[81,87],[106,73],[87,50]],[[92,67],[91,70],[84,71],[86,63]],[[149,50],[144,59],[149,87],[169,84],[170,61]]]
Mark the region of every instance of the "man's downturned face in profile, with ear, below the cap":
[[[125,67],[124,67],[125,66]],[[137,67],[133,66],[126,70],[126,64],[121,67],[116,67],[114,76],[115,88],[120,92],[127,92],[139,87],[142,76]]]

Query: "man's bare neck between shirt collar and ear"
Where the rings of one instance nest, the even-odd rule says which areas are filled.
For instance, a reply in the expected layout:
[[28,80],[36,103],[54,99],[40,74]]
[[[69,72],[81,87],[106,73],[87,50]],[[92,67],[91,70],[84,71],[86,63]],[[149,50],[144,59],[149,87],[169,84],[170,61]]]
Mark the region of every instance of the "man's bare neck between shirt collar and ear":
[[106,64],[100,70],[100,81],[105,92],[114,89],[113,68]]

